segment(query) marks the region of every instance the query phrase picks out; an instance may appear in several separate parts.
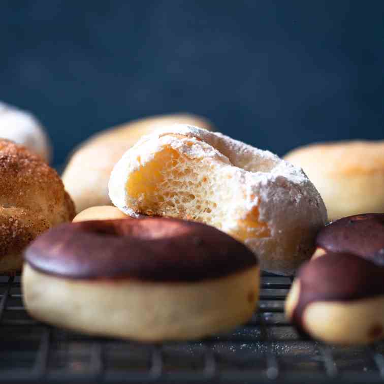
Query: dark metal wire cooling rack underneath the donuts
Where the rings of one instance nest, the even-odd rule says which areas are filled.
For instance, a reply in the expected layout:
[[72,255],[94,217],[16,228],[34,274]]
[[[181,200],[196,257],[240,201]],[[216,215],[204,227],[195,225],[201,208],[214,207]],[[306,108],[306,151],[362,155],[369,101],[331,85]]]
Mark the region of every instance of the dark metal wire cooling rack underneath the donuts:
[[384,382],[384,343],[331,347],[295,332],[283,313],[290,284],[265,274],[258,312],[231,333],[154,345],[37,322],[23,307],[20,277],[0,277],[0,382]]

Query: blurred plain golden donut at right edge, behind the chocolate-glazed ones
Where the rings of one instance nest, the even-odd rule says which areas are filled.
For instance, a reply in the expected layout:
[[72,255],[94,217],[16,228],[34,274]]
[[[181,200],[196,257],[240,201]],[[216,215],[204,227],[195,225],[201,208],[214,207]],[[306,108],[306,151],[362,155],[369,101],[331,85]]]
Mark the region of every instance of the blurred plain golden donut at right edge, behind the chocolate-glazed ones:
[[384,140],[311,144],[284,159],[303,168],[322,195],[330,220],[384,212]]

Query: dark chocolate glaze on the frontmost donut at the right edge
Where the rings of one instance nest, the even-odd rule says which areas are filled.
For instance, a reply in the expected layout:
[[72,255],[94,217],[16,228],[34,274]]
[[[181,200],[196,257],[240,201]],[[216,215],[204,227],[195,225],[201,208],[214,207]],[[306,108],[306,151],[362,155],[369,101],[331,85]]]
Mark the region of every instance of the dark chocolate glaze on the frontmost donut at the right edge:
[[353,301],[384,295],[384,267],[351,253],[333,253],[306,262],[299,269],[299,298],[293,322],[307,335],[303,314],[316,301]]

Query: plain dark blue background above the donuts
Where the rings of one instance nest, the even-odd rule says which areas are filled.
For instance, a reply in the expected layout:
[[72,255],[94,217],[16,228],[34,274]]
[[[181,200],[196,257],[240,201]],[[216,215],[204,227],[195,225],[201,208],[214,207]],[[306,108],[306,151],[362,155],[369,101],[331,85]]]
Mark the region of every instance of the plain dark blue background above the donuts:
[[0,0],[0,100],[39,116],[56,163],[174,111],[278,154],[382,139],[383,18],[381,0]]

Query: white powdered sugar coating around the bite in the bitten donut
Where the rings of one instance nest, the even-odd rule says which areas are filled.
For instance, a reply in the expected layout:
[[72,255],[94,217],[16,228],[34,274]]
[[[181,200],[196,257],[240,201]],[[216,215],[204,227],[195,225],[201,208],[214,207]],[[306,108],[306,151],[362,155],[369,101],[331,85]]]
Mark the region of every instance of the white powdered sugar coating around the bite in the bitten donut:
[[201,221],[234,234],[258,210],[258,222],[267,226],[268,235],[252,236],[248,228],[249,237],[242,240],[259,256],[262,269],[291,275],[310,257],[314,236],[324,226],[327,213],[304,172],[272,152],[190,125],[176,124],[143,137],[123,155],[109,182],[110,198],[120,210],[132,216],[145,213],[127,196],[125,185],[164,147],[206,165],[217,176],[215,198],[222,216],[217,221],[203,215]]

